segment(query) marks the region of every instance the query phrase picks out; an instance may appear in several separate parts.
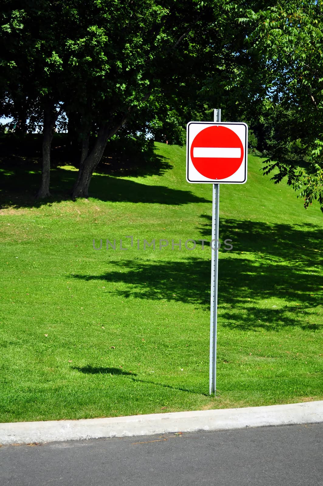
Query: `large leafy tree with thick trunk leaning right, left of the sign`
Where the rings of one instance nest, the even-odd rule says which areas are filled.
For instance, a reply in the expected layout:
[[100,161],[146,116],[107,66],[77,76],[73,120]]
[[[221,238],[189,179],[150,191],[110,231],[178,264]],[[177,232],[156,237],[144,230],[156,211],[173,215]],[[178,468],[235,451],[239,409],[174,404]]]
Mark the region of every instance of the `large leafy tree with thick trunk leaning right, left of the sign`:
[[[224,64],[216,28],[223,18],[193,1],[103,1],[100,8],[92,2],[86,16],[81,48],[69,43],[76,74],[71,113],[79,114],[83,139],[74,197],[88,195],[107,140],[125,123],[137,121],[140,130],[150,117],[152,133],[158,124],[174,131],[189,113],[205,112],[200,85],[211,72],[221,74]],[[90,132],[97,137],[88,151]]]

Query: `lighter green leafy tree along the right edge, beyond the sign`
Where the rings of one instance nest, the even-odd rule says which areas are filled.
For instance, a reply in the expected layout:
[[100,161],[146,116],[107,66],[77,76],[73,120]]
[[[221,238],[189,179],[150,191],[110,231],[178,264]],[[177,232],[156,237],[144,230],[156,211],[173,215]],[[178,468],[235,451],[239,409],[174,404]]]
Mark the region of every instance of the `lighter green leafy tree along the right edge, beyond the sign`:
[[252,80],[245,109],[267,157],[264,171],[274,182],[287,177],[305,208],[317,199],[323,210],[323,1],[249,6],[227,9],[248,29],[251,63],[241,86]]

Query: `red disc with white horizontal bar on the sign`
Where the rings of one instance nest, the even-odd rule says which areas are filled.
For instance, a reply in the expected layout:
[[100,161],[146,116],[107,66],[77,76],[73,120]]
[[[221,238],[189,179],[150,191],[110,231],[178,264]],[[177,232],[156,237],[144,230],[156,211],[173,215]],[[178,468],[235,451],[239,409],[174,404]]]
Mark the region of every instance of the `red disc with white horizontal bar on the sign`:
[[190,155],[199,174],[216,180],[226,179],[239,169],[244,150],[233,130],[223,125],[212,125],[197,134]]

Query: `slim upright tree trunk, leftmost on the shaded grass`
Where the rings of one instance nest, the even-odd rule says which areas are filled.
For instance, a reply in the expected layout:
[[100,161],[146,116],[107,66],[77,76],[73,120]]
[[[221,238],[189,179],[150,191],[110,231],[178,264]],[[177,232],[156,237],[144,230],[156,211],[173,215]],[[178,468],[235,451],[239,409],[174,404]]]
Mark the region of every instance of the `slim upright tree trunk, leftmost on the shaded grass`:
[[37,199],[45,199],[50,197],[49,191],[50,183],[50,169],[51,169],[51,144],[54,135],[53,116],[51,113],[51,106],[47,105],[44,109],[44,123],[43,123],[43,145],[42,145],[42,172],[41,172],[41,185],[37,194]]

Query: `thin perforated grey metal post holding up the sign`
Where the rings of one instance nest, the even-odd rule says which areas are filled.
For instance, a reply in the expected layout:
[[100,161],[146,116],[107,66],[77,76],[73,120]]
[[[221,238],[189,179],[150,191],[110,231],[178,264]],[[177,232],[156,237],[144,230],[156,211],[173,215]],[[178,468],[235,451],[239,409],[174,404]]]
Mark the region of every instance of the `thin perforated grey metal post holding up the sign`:
[[[221,110],[214,110],[214,121],[221,121]],[[216,327],[217,327],[217,265],[219,239],[220,185],[213,184],[211,248],[211,319],[210,319],[210,395],[216,392]]]

